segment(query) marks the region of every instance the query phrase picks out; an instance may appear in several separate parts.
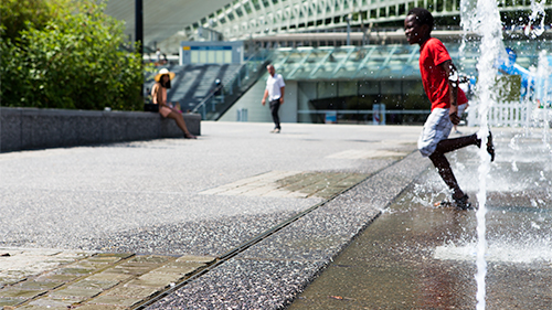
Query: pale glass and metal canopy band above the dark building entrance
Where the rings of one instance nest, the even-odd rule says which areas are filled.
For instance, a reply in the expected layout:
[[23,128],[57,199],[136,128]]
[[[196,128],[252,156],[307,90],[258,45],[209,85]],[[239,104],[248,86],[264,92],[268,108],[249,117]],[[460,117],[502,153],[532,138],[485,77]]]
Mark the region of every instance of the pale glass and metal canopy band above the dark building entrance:
[[[467,42],[445,44],[458,71],[477,76],[479,45]],[[548,41],[506,41],[518,54],[517,64],[529,68],[538,63],[539,51],[552,51]],[[288,81],[420,79],[420,46],[406,44],[340,47],[276,49],[273,64]]]

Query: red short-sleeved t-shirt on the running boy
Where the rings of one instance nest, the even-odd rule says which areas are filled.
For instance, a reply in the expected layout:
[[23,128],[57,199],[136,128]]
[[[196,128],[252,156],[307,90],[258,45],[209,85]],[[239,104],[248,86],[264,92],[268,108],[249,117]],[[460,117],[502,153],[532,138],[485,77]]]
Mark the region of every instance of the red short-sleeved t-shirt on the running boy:
[[432,103],[432,110],[450,107],[448,76],[440,67],[442,63],[449,60],[450,55],[447,49],[438,39],[431,38],[420,47],[420,72],[425,94]]

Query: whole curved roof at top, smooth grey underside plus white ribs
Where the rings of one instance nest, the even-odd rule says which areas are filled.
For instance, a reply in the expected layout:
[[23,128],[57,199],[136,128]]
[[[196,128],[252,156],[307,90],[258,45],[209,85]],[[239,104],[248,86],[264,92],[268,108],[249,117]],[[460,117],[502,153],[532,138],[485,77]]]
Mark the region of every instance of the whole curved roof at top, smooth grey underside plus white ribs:
[[[108,0],[106,12],[127,23],[135,35],[135,1]],[[144,45],[178,49],[181,41],[202,41],[209,34],[223,40],[247,40],[343,29],[365,31],[374,24],[401,21],[413,7],[434,17],[460,17],[465,0],[163,0],[144,1]],[[501,11],[528,11],[537,0],[498,0]],[[552,9],[550,1],[543,9]],[[170,46],[170,47],[169,47]]]

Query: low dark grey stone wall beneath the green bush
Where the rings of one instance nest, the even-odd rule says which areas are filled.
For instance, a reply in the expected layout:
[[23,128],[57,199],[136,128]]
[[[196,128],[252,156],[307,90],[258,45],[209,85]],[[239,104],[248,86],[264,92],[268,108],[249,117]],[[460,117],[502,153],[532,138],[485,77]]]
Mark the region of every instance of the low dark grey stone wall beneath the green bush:
[[[201,135],[201,116],[183,116]],[[0,108],[0,152],[180,137],[174,120],[158,113]]]

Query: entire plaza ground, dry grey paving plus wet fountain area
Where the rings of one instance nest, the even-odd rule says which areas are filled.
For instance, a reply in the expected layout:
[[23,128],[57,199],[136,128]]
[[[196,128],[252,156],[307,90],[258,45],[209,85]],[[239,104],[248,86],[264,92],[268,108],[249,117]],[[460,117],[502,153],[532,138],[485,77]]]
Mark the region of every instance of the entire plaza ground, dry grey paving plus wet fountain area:
[[[0,306],[475,308],[475,211],[434,205],[421,127],[266,129],[0,154]],[[487,304],[551,309],[552,153],[493,135]],[[477,150],[449,156],[474,203]]]

